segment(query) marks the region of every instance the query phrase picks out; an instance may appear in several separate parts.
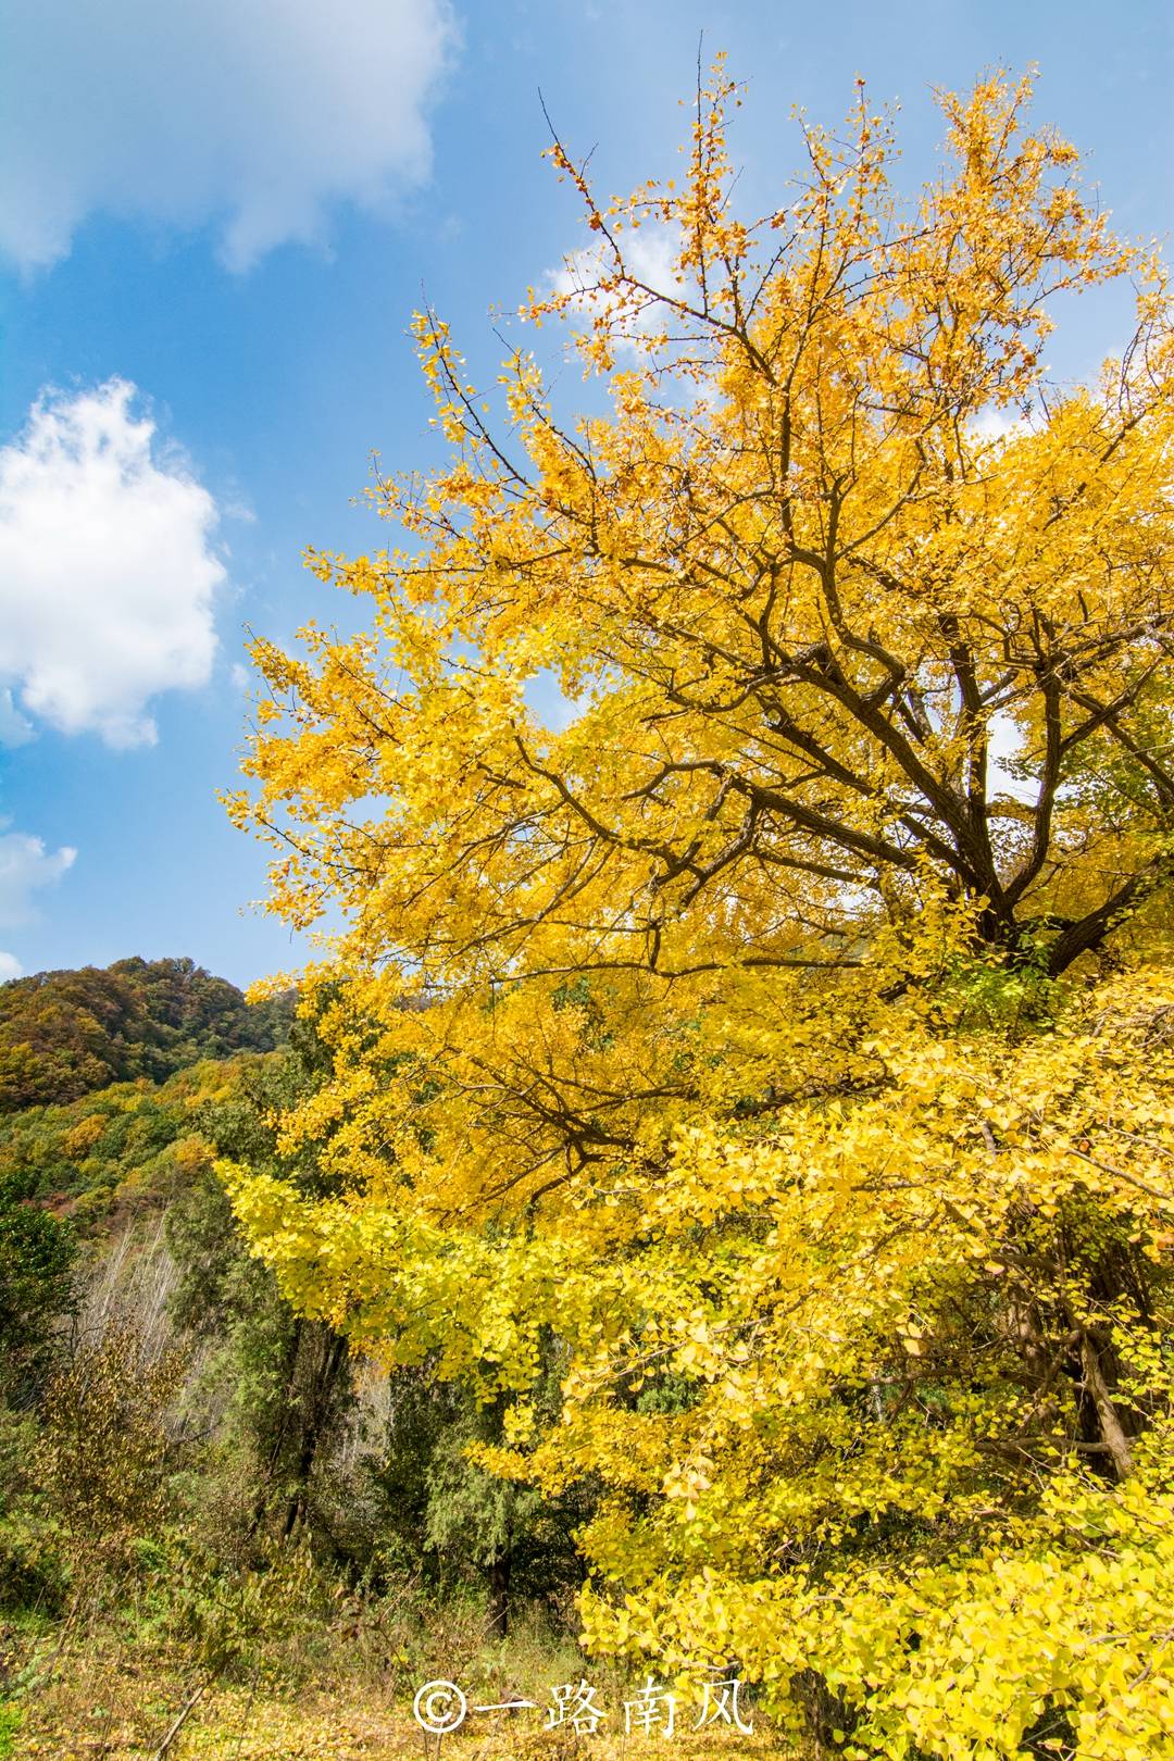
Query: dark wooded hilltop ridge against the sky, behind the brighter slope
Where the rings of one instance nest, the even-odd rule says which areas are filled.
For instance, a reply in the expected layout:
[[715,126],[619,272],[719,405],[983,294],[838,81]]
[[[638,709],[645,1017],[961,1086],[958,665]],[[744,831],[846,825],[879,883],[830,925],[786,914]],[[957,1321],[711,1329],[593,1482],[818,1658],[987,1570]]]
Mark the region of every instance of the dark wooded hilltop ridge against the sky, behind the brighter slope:
[[246,1004],[194,960],[116,960],[0,984],[0,1113],[109,1083],[164,1081],[201,1058],[271,1051],[292,997]]

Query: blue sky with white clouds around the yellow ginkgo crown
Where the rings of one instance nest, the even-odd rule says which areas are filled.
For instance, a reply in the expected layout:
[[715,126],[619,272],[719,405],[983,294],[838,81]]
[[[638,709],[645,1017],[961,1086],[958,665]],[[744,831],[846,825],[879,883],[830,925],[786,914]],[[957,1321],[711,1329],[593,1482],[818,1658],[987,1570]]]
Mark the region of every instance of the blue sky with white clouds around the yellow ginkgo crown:
[[[1118,229],[1170,232],[1169,0],[0,0],[0,977],[303,958],[245,909],[264,858],[215,799],[243,629],[354,616],[301,553],[385,541],[352,505],[371,449],[435,458],[421,299],[486,377],[489,308],[583,243],[539,88],[604,188],[672,174],[702,30],[750,81],[752,211],[797,166],[794,104],[836,122],[864,74],[915,187],[931,88],[1037,62]],[[1126,317],[1081,303],[1054,370]]]

